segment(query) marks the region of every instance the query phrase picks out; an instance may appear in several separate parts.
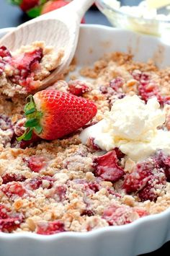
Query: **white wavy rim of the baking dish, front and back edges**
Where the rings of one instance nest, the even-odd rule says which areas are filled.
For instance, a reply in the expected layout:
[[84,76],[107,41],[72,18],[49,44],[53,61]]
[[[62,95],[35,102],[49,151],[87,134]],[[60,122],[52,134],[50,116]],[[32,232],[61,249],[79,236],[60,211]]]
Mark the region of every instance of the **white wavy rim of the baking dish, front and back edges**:
[[[6,28],[2,28],[0,29],[0,34],[1,33],[5,33],[5,32],[11,32],[12,30],[14,30],[15,27],[6,27]],[[89,29],[89,28],[98,28],[99,30],[112,30],[112,31],[126,31],[130,34],[133,35],[140,35],[140,37],[153,37],[154,40],[157,40],[161,43],[161,40],[159,40],[157,37],[154,37],[153,35],[141,35],[138,32],[133,32],[130,30],[125,30],[125,29],[121,29],[121,28],[116,28],[116,27],[108,27],[106,25],[93,25],[93,24],[88,24],[88,25],[81,25],[81,29]],[[164,43],[162,43],[164,45]],[[166,45],[167,46],[167,45]],[[170,48],[170,45],[169,45]],[[140,229],[140,226],[143,226],[143,224],[151,224],[155,221],[161,221],[161,219],[164,218],[169,218],[170,219],[170,207],[167,208],[165,211],[162,211],[161,213],[156,213],[156,214],[151,214],[148,216],[143,216],[140,219],[137,219],[135,221],[133,221],[130,224],[125,224],[125,225],[121,225],[121,226],[105,226],[102,228],[97,228],[91,231],[86,231],[86,232],[78,232],[78,231],[66,231],[66,232],[61,232],[61,233],[57,233],[57,234],[51,234],[51,235],[44,235],[44,234],[35,234],[32,232],[19,232],[19,233],[4,233],[4,232],[0,232],[0,239],[20,239],[20,238],[27,238],[27,239],[36,239],[36,240],[40,240],[40,241],[53,241],[56,239],[63,239],[63,238],[76,238],[76,239],[84,239],[84,238],[92,238],[92,237],[96,237],[99,236],[100,234],[108,234],[108,233],[113,233],[115,232],[117,235],[122,234],[122,233],[129,233],[129,231],[133,231],[134,229]],[[168,240],[167,240],[168,241]],[[166,242],[167,242],[166,241]]]

